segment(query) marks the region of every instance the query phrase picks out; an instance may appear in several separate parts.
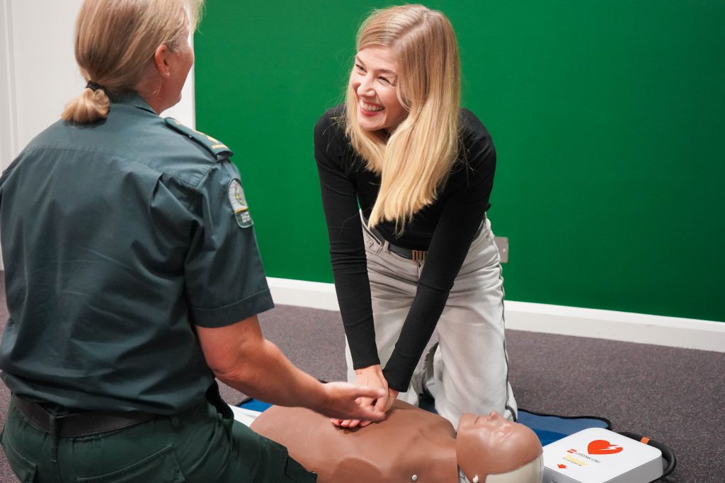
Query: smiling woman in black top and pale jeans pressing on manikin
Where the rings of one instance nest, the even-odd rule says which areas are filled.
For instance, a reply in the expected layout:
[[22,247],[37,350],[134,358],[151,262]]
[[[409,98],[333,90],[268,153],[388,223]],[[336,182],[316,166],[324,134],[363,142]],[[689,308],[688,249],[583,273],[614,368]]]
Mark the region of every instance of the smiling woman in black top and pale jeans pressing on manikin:
[[[346,102],[315,126],[315,159],[348,379],[388,393],[364,403],[387,410],[424,391],[454,427],[464,412],[515,420],[500,258],[486,218],[496,154],[484,125],[460,108],[444,14],[422,5],[370,14]],[[439,344],[414,376],[434,332]]]

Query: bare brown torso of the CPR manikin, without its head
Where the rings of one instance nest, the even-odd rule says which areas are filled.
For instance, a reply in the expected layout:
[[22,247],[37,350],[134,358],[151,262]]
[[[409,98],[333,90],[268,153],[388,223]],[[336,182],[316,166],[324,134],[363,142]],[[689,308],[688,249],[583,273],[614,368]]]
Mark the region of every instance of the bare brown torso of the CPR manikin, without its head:
[[273,406],[252,429],[285,445],[318,483],[458,482],[452,425],[409,404],[396,403],[384,424],[356,429],[334,427],[308,409]]

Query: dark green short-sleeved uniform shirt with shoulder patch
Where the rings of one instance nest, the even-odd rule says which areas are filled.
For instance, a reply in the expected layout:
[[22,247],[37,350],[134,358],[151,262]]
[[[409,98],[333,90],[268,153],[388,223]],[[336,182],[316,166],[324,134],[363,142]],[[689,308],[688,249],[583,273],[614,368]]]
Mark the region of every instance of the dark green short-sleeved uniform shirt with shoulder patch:
[[177,413],[213,375],[194,325],[273,307],[222,143],[136,93],[59,121],[0,177],[7,386],[68,408]]

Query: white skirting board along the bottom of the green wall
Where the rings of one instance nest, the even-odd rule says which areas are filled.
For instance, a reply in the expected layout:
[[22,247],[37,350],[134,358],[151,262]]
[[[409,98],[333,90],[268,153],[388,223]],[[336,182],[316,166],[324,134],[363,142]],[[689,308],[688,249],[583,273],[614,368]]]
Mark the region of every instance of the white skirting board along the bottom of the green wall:
[[[339,310],[334,284],[267,280],[275,303]],[[507,329],[725,352],[725,322],[515,301],[505,318]]]

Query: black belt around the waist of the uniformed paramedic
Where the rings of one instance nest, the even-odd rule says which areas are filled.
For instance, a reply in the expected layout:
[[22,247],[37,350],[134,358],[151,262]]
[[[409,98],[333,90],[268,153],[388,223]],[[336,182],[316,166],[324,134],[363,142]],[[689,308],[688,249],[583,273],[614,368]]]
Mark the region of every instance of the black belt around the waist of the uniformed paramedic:
[[62,414],[54,416],[38,403],[20,399],[15,396],[12,400],[30,421],[33,426],[59,437],[81,437],[117,431],[155,418],[156,414],[128,412],[128,413],[101,413],[98,411],[84,411],[80,413]]

